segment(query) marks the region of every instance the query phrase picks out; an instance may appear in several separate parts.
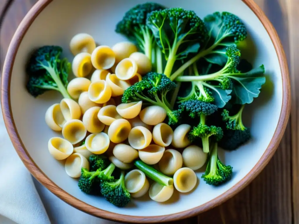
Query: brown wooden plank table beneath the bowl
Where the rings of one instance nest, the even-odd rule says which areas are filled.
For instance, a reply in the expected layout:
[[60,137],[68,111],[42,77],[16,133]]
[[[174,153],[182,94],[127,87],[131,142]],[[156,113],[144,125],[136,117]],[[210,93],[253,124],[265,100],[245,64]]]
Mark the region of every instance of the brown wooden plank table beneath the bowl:
[[[0,0],[0,14],[9,0]],[[37,0],[12,1],[0,30],[0,66],[17,26]],[[262,173],[244,190],[198,217],[175,223],[299,223],[299,0],[255,0],[274,24],[289,61],[292,111],[285,135]],[[298,47],[298,48],[297,48]],[[1,69],[0,69],[1,70]],[[298,141],[297,141],[298,140]]]

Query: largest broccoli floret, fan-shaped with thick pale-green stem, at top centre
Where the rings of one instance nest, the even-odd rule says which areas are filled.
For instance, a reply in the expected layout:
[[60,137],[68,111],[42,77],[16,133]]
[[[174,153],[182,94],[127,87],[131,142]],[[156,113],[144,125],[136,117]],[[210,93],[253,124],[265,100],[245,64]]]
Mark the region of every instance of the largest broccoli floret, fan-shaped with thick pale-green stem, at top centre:
[[167,60],[164,69],[167,77],[170,77],[176,60],[197,53],[208,37],[202,19],[194,11],[182,8],[153,11],[147,18],[147,26]]

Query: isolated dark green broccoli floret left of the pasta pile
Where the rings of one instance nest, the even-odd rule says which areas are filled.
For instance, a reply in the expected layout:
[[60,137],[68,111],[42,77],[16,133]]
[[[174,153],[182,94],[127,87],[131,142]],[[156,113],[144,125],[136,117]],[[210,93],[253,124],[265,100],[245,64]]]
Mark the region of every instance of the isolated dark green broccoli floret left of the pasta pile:
[[66,90],[71,63],[61,59],[62,47],[43,46],[31,55],[26,72],[28,92],[37,97],[48,90],[59,91],[64,98],[71,98]]

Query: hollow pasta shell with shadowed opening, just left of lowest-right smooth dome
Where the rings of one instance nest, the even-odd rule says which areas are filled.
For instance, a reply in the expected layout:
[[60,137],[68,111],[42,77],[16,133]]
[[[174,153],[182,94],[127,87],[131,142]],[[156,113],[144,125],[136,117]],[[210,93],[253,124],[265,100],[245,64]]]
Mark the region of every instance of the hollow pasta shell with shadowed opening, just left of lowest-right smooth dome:
[[175,149],[167,149],[164,151],[159,161],[159,168],[163,174],[173,175],[183,166],[183,157],[181,153]]

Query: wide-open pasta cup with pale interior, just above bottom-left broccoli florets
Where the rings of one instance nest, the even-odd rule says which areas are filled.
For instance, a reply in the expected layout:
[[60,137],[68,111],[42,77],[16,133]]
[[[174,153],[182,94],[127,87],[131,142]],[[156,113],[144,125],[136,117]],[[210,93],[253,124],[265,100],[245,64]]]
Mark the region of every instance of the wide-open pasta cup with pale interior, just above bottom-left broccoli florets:
[[98,134],[90,134],[85,139],[86,148],[93,154],[103,154],[109,148],[110,139],[104,132]]

